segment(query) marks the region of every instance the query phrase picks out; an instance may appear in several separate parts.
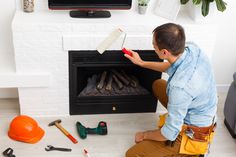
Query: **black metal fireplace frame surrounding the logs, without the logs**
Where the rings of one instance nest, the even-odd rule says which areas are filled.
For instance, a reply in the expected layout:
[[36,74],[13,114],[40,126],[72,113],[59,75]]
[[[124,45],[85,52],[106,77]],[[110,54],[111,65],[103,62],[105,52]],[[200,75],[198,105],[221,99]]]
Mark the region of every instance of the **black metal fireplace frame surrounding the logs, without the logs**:
[[[135,50],[146,61],[161,60],[153,50]],[[99,68],[125,68],[139,74],[140,83],[150,92],[148,95],[93,96],[79,97],[87,76],[82,82],[78,71],[84,73]],[[79,69],[79,70],[78,70]],[[144,69],[131,63],[119,50],[106,51],[102,55],[97,51],[69,51],[69,101],[70,115],[105,113],[141,113],[156,112],[157,98],[152,95],[152,83],[161,78],[162,73]],[[80,78],[81,79],[81,78]],[[145,79],[145,81],[143,81]]]

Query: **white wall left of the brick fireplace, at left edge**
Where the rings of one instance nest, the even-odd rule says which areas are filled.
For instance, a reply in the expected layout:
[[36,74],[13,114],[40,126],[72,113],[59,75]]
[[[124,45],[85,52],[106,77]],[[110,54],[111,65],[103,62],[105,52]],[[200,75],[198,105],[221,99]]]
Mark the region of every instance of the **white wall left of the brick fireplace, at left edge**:
[[[15,0],[1,2],[0,9],[0,73],[14,72],[14,51],[12,44],[11,21],[15,12]],[[0,98],[17,97],[17,89],[1,89]]]

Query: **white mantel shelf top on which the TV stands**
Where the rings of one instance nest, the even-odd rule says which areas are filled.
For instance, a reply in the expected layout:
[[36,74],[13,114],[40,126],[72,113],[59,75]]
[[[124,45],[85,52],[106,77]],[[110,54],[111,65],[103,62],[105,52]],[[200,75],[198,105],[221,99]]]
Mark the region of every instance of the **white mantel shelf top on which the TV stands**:
[[[135,11],[111,11],[111,18],[71,18],[68,11],[49,11],[25,13],[23,11],[16,11],[12,22],[12,27],[16,32],[83,32],[87,31],[89,26],[96,24],[96,27],[90,27],[90,33],[107,32],[106,28],[109,26],[121,27],[124,31],[132,33],[133,31],[140,33],[147,32],[143,26],[152,26],[155,28],[158,25],[175,22],[183,26],[195,25],[216,25],[215,21],[196,23],[191,20],[184,11],[179,13],[176,21],[159,17],[153,13],[140,15]],[[52,27],[53,26],[53,27]],[[133,28],[132,26],[136,26]]]

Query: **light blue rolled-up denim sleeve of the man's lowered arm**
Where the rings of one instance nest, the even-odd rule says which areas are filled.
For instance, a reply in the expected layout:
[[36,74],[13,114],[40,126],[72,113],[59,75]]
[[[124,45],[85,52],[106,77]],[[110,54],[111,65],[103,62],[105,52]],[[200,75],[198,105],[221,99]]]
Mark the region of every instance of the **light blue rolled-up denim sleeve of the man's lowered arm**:
[[179,87],[171,87],[168,96],[168,116],[161,128],[161,134],[168,140],[174,141],[181,131],[192,96]]

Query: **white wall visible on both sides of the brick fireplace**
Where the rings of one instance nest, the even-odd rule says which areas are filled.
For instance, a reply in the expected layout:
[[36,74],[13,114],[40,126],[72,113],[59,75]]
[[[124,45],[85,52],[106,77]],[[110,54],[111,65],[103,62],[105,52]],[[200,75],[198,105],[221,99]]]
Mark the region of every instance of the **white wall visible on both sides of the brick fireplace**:
[[[22,2],[22,0],[16,1],[18,4]],[[7,0],[1,3],[0,73],[14,72],[15,63],[11,20],[14,15],[16,4],[15,0]],[[227,85],[232,82],[232,74],[236,71],[236,1],[228,1],[227,3],[227,10],[224,13],[220,13],[220,16],[217,16],[220,29],[217,35],[218,38],[212,60],[217,85],[222,87],[227,87]],[[17,95],[17,89],[0,89],[0,98],[17,97]]]

